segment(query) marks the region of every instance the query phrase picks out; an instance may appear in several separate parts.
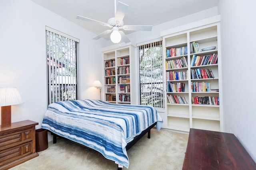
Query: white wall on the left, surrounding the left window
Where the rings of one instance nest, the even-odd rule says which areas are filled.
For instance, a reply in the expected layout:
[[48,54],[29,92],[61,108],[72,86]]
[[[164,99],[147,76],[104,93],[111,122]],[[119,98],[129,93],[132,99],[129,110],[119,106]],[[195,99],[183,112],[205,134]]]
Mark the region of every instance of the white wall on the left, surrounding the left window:
[[102,78],[94,34],[30,0],[0,0],[0,25],[0,87],[17,87],[24,101],[12,106],[12,122],[30,119],[41,127],[47,108],[46,25],[80,39],[79,98],[99,98],[91,87]]

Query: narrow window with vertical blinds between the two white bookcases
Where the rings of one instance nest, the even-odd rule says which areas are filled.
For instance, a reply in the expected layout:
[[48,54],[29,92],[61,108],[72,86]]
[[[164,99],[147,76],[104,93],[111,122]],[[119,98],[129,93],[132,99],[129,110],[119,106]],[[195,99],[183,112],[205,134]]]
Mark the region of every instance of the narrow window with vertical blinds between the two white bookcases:
[[164,107],[162,41],[139,46],[140,104]]

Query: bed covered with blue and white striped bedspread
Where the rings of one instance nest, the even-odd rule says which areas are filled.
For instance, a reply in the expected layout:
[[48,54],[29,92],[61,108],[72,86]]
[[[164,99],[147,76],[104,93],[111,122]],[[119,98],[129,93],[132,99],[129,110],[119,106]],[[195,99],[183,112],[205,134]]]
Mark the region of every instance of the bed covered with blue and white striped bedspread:
[[[42,128],[97,150],[119,169],[128,168],[128,150],[162,118],[152,106],[112,104],[102,100],[70,100],[50,104]],[[149,136],[150,137],[150,136]]]

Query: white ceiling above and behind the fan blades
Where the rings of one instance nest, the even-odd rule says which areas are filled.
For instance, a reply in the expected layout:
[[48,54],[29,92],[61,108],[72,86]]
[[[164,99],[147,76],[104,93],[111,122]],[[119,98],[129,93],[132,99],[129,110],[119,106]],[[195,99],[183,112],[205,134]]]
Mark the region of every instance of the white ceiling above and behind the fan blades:
[[[115,0],[31,0],[40,6],[100,34],[109,29],[76,19],[77,15],[107,23],[115,16]],[[218,6],[219,0],[116,0],[129,5],[124,25],[158,25]],[[129,34],[132,31],[124,31]]]

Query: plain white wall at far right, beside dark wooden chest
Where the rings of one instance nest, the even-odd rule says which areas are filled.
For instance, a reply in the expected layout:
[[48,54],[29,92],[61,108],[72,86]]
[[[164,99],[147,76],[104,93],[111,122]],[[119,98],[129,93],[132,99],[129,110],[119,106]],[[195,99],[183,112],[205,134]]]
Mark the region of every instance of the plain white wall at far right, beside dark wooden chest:
[[256,1],[220,0],[224,130],[256,161]]

